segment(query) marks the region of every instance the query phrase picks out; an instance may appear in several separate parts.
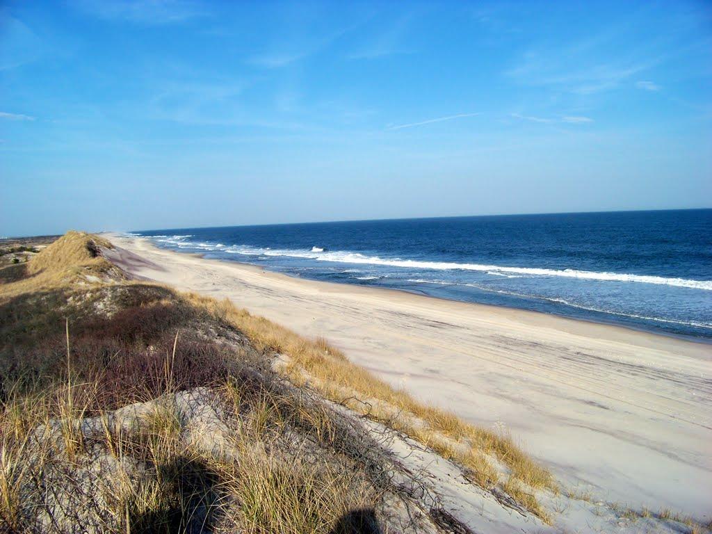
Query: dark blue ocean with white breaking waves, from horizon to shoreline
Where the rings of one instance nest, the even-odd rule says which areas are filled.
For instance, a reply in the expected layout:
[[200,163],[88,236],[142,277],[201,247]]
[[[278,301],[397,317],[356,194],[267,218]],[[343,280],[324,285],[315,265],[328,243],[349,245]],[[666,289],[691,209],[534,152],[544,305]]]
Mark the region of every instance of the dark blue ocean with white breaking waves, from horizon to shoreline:
[[292,276],[712,340],[712,209],[140,231]]

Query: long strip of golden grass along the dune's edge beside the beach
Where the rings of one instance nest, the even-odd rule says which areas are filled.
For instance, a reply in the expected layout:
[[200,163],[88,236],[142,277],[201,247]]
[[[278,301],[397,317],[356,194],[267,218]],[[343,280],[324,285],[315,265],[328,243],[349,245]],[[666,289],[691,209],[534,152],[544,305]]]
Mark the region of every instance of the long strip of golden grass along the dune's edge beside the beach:
[[516,446],[511,436],[467,424],[455,414],[415,401],[347,360],[323,339],[307,340],[288,328],[235,308],[229,300],[216,301],[195,293],[186,298],[244,332],[260,350],[287,355],[290,362],[286,372],[293,382],[303,383],[305,373],[310,385],[328,399],[368,414],[446,459],[458,461],[471,469],[473,479],[481,486],[487,488],[499,482],[488,456],[498,459],[510,471],[505,488],[523,506],[548,520],[533,490],[557,491],[556,483],[545,468]]

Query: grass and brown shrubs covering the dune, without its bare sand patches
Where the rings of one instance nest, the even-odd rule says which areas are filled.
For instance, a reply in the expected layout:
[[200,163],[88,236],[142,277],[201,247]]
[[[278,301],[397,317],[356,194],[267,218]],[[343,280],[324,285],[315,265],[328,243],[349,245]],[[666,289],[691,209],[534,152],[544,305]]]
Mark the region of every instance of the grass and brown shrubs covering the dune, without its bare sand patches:
[[[48,531],[61,531],[68,513],[73,524],[95,530],[169,531],[195,520],[227,521],[220,510],[229,507],[231,520],[247,532],[296,534],[325,531],[347,511],[375,506],[377,462],[360,451],[369,446],[320,404],[244,378],[246,365],[271,376],[265,366],[275,353],[288,357],[282,372],[292,384],[309,386],[302,391],[314,389],[411,436],[468,468],[484,488],[499,486],[550,519],[534,493],[555,491],[555,482],[511,437],[415,401],[326,340],[305,339],[229,301],[127,281],[100,256],[108,246],[70,232],[22,273],[0,272],[6,281],[0,284],[0,520],[7,525],[27,530],[28,510],[41,510]],[[241,335],[246,342],[235,341]],[[180,418],[166,409],[140,435],[107,426],[100,439],[87,439],[79,427],[87,417],[196,387],[219,391],[231,404],[241,461],[191,449],[180,438]],[[330,454],[287,454],[281,436],[288,428]],[[106,481],[67,467],[88,468],[97,454],[116,460],[99,468]],[[143,466],[143,478],[124,467],[135,464]],[[64,493],[48,498],[44,477]],[[59,510],[58,499],[83,508]]]

